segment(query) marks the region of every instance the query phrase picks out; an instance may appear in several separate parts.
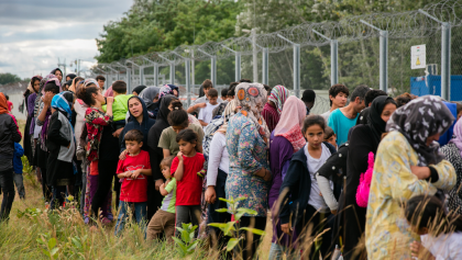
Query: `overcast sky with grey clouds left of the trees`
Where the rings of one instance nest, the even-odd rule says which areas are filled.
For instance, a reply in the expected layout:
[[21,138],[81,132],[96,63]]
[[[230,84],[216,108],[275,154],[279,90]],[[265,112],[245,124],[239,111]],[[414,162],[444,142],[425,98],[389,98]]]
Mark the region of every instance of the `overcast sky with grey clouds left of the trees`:
[[46,75],[66,59],[88,68],[102,26],[122,18],[132,0],[0,0],[0,72]]

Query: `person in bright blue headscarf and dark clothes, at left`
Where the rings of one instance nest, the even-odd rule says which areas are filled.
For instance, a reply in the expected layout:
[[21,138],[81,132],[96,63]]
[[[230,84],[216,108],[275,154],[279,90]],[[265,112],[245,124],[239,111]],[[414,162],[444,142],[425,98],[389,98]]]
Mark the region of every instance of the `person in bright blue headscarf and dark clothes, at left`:
[[46,147],[48,148],[46,182],[53,188],[51,208],[63,205],[66,185],[74,184],[74,128],[70,124],[74,94],[69,91],[53,97]]

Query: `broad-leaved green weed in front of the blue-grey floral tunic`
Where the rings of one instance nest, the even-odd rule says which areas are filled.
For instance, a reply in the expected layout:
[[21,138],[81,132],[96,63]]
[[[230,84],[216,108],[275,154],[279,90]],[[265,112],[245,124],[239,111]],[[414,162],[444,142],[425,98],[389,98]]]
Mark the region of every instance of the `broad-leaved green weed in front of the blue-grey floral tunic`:
[[[243,237],[239,236],[240,230],[251,231],[260,236],[265,235],[264,230],[260,230],[260,229],[251,228],[251,227],[240,227],[239,221],[244,214],[250,215],[250,216],[254,216],[257,214],[256,211],[254,210],[238,207],[238,202],[243,201],[245,199],[246,199],[245,196],[240,196],[238,199],[234,199],[231,196],[229,200],[220,197],[219,200],[227,202],[230,205],[231,210],[228,211],[228,208],[219,208],[219,210],[216,210],[216,212],[220,212],[220,213],[229,212],[230,214],[234,215],[235,221],[228,222],[228,223],[210,223],[209,224],[209,226],[211,227],[220,228],[220,230],[223,231],[224,236],[231,237],[227,245],[227,251],[233,250],[235,246],[238,246],[240,241],[243,239]],[[240,245],[239,249],[241,248],[242,246]]]

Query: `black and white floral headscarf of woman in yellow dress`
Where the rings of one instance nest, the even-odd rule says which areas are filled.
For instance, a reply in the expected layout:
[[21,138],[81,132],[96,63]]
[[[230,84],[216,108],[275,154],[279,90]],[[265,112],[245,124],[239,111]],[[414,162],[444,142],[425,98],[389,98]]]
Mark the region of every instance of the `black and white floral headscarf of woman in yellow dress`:
[[427,146],[427,137],[443,134],[452,125],[454,116],[441,98],[425,95],[399,108],[389,118],[386,131],[398,131],[418,154],[418,166],[437,165],[444,155],[439,152],[439,144]]

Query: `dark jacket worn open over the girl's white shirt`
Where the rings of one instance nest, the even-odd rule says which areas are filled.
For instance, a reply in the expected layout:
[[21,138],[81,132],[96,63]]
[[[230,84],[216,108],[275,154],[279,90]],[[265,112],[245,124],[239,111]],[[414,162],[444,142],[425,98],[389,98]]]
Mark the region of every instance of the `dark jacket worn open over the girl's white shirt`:
[[[332,155],[337,152],[331,144],[327,142],[323,142],[323,144]],[[304,147],[292,156],[289,168],[279,190],[280,224],[288,223],[292,217],[293,226],[297,225],[301,219],[305,207],[308,205],[310,192],[311,177],[308,171]]]

